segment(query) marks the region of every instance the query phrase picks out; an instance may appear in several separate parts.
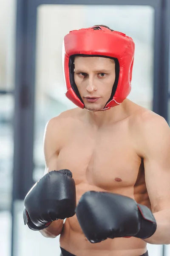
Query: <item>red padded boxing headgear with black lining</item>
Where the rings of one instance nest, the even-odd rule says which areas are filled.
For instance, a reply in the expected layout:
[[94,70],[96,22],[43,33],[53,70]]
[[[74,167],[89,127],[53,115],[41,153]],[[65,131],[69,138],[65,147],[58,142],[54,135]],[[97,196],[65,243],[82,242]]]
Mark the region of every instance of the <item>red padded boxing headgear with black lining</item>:
[[74,81],[74,57],[106,57],[115,60],[116,79],[111,97],[104,109],[121,104],[130,93],[135,44],[122,32],[104,26],[73,30],[63,42],[63,70],[67,87],[66,96],[79,108],[85,105]]

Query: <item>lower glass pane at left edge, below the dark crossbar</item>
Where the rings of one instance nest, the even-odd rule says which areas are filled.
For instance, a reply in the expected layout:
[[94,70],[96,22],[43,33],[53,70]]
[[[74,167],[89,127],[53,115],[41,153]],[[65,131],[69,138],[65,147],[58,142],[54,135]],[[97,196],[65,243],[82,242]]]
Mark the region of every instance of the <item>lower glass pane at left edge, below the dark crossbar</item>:
[[0,232],[1,252],[11,250],[11,189],[13,171],[13,110],[12,95],[0,95]]

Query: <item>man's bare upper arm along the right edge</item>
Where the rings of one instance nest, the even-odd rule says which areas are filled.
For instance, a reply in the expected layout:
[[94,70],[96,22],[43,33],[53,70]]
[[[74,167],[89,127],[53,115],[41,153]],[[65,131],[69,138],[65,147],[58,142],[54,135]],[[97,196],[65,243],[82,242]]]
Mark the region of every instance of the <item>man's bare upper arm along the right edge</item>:
[[170,206],[170,128],[164,119],[158,121],[147,129],[144,145],[145,182],[153,212]]

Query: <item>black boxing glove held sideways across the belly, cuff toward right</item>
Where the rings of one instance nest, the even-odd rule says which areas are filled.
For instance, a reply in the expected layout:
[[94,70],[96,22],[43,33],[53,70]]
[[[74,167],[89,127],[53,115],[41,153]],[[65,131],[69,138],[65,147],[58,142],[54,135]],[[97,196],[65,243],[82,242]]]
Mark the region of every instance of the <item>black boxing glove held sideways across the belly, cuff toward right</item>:
[[91,243],[129,236],[146,239],[156,231],[156,220],[150,209],[123,195],[86,192],[80,198],[76,214]]

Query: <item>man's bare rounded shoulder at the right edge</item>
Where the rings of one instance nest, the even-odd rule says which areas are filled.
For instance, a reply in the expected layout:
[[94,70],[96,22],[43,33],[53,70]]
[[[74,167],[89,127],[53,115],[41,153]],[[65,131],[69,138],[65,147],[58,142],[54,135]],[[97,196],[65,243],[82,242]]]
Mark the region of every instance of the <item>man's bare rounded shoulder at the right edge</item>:
[[170,128],[166,120],[145,108],[139,108],[131,116],[129,125],[130,137],[135,145],[136,152],[154,151],[164,148],[170,143]]

